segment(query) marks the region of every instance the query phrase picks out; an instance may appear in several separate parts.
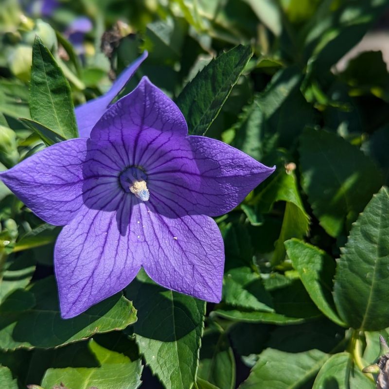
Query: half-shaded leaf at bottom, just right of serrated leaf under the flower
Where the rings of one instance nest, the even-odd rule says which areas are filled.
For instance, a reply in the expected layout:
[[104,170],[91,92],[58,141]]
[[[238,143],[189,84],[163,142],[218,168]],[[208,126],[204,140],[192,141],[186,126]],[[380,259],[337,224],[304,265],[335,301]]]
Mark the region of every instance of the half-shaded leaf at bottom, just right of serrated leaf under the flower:
[[220,389],[234,389],[235,358],[223,329],[213,323],[204,331],[201,342],[197,380],[200,377]]

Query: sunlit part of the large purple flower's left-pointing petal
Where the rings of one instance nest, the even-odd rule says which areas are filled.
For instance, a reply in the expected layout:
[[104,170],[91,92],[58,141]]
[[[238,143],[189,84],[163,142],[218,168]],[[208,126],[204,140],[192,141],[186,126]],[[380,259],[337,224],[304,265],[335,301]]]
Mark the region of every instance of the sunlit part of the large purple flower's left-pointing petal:
[[86,154],[86,139],[56,143],[1,172],[0,179],[38,217],[63,226],[82,205]]

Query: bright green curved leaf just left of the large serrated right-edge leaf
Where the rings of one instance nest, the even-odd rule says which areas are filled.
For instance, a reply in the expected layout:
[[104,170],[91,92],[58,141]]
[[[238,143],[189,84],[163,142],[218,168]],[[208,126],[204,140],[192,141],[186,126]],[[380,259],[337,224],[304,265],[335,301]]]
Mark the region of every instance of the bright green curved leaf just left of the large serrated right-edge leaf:
[[324,315],[344,326],[336,313],[332,297],[335,261],[319,248],[297,239],[286,241],[285,247],[312,301]]

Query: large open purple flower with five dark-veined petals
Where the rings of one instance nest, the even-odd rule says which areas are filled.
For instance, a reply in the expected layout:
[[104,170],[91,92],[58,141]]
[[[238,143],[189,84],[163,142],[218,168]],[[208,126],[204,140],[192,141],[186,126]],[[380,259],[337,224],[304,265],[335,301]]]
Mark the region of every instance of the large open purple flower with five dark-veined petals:
[[[77,115],[80,127],[93,115]],[[143,77],[90,138],[54,144],[0,177],[36,215],[65,226],[54,269],[62,317],[71,318],[122,290],[141,266],[162,286],[220,301],[224,248],[210,216],[232,210],[273,171],[221,141],[188,136],[177,106]]]

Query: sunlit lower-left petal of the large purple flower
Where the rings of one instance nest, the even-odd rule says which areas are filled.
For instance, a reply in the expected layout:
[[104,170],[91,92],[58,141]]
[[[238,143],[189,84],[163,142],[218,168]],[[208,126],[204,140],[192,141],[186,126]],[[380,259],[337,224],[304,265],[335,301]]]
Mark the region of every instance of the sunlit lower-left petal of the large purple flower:
[[128,232],[121,228],[128,226],[130,202],[122,204],[118,212],[83,207],[59,234],[54,269],[62,318],[72,318],[119,292],[141,268]]

